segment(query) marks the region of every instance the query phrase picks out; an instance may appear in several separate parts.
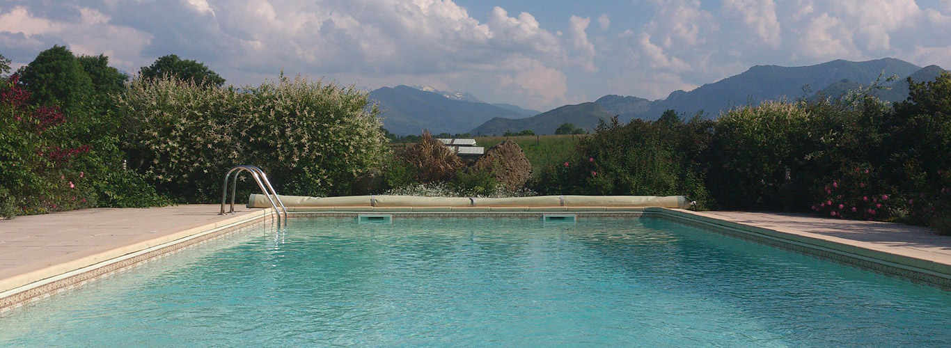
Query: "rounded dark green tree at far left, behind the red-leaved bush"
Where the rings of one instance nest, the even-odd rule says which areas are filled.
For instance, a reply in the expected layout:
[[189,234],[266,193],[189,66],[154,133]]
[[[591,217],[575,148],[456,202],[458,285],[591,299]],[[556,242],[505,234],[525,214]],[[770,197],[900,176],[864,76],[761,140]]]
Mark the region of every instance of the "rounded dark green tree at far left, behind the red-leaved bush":
[[63,46],[40,52],[18,72],[34,103],[62,106],[67,114],[86,104],[94,91],[83,65]]

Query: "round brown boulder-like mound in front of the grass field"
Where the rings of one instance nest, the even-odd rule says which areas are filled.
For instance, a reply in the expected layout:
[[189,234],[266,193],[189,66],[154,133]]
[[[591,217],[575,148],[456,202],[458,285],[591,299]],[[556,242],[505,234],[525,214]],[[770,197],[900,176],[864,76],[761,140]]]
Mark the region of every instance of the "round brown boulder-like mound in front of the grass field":
[[491,171],[499,184],[511,190],[522,187],[532,177],[532,163],[521,146],[511,140],[489,147],[471,168]]

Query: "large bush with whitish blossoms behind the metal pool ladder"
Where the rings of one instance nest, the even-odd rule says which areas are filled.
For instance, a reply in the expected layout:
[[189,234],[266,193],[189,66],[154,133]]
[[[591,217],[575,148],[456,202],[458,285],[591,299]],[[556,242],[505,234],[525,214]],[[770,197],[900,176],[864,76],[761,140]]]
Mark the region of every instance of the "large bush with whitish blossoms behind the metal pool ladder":
[[136,79],[118,103],[129,165],[179,202],[213,201],[237,164],[258,164],[281,193],[348,194],[387,152],[366,93],[301,77],[243,90]]

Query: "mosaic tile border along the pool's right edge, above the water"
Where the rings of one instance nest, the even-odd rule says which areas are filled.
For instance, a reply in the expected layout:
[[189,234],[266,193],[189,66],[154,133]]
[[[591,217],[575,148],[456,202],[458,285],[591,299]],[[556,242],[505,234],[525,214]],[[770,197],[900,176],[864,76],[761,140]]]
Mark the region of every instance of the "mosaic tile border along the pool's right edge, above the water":
[[[670,222],[687,225],[694,228],[703,229],[734,238],[766,244],[772,247],[796,252],[806,256],[816,257],[826,261],[834,261],[844,265],[861,268],[885,276],[895,277],[902,280],[938,287],[941,290],[951,291],[951,275],[942,275],[936,272],[916,268],[913,266],[902,265],[890,261],[877,260],[861,255],[851,254],[842,250],[835,250],[819,245],[809,245],[802,242],[783,240],[756,232],[745,231],[739,228],[712,222],[702,222],[690,219],[689,217],[654,212],[650,217],[664,219]],[[782,232],[777,232],[782,233]]]

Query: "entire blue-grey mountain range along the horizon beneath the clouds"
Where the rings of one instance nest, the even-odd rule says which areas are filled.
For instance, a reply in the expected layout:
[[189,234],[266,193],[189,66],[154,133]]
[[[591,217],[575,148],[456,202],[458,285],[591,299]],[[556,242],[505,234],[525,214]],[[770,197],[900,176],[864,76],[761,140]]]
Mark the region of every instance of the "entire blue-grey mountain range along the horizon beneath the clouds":
[[[879,81],[874,93],[883,101],[902,101],[908,96],[907,77],[915,82],[932,81],[944,69],[921,68],[894,58],[866,62],[835,60],[807,67],[756,66],[740,74],[690,91],[676,90],[667,98],[650,101],[632,96],[606,95],[593,103],[560,106],[538,113],[512,105],[492,105],[470,93],[445,92],[432,87],[382,87],[370,93],[383,109],[383,125],[398,135],[433,133],[502,134],[531,129],[552,134],[564,123],[588,130],[601,120],[617,116],[622,122],[634,118],[655,120],[667,109],[681,114],[702,112],[714,118],[731,107],[755,105],[765,100],[836,98],[849,90]],[[893,81],[885,81],[895,76]],[[423,90],[426,89],[426,90]],[[528,117],[531,116],[531,117]]]

